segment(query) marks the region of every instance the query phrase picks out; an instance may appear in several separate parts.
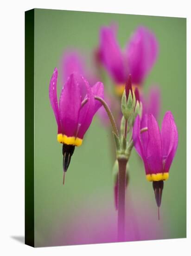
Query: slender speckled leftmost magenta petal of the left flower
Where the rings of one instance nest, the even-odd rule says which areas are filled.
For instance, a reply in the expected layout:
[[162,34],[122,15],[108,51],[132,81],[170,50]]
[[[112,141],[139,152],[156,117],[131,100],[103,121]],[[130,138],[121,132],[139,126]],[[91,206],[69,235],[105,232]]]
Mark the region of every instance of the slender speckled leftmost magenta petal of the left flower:
[[57,68],[55,67],[54,73],[52,74],[50,85],[49,85],[49,98],[51,101],[51,106],[56,117],[58,133],[61,131],[59,109],[57,104]]

